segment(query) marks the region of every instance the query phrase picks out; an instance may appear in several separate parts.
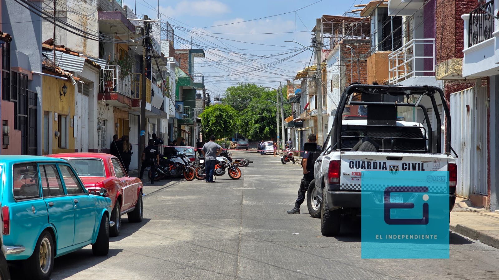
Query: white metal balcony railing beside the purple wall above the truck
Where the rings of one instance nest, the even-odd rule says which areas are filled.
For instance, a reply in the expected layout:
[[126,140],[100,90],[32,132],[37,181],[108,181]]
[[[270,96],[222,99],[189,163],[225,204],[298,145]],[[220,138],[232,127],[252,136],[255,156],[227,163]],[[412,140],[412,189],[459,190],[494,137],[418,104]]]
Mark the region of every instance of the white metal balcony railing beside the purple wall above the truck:
[[389,81],[402,82],[414,76],[435,76],[435,39],[412,39],[388,55]]

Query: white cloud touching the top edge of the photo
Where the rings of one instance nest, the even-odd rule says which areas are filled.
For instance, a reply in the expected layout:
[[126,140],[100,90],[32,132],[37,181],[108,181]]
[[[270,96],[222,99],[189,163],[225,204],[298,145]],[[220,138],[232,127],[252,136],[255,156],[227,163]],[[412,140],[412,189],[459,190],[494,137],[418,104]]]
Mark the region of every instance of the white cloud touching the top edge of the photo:
[[171,17],[183,14],[210,17],[217,14],[228,13],[231,9],[226,4],[217,0],[183,0],[178,2],[175,7],[160,6],[160,11]]

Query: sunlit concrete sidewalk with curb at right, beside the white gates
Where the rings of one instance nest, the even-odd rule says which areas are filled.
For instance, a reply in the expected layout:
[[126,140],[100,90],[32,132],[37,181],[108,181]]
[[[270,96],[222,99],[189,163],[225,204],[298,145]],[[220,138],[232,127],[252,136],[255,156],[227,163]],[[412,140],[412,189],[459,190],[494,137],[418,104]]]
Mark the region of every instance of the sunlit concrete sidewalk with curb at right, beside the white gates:
[[499,249],[499,213],[471,206],[467,199],[456,199],[450,229]]

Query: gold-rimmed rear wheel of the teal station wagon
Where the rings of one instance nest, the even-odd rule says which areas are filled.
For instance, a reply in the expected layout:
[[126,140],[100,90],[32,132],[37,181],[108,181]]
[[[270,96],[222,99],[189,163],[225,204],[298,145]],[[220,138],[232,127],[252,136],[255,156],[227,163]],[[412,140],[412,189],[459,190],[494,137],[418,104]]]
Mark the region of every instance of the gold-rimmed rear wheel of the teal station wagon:
[[24,263],[27,279],[49,279],[54,267],[55,248],[52,235],[43,231],[33,254]]

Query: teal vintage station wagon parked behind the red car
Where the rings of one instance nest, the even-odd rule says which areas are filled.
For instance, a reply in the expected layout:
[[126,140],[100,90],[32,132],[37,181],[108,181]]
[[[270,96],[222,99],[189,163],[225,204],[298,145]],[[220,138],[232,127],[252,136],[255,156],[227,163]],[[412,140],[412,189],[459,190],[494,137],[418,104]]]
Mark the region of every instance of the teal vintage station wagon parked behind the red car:
[[111,199],[89,194],[67,161],[1,155],[0,179],[6,259],[23,260],[26,279],[48,279],[55,257],[89,244],[107,255]]

